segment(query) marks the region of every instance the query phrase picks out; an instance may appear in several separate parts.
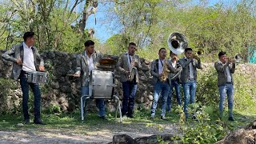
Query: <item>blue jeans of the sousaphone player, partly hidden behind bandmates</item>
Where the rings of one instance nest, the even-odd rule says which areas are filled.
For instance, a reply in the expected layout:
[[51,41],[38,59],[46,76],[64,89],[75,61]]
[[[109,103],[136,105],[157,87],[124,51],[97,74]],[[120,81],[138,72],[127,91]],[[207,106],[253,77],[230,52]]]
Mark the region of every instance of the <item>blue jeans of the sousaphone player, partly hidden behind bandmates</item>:
[[181,89],[180,89],[180,85],[178,83],[178,80],[174,80],[170,82],[170,90],[169,90],[169,94],[168,94],[168,98],[167,98],[167,111],[170,111],[171,109],[171,98],[173,95],[173,89],[175,88],[176,91],[176,98],[177,98],[177,103],[179,106],[182,105],[182,101],[181,101]]

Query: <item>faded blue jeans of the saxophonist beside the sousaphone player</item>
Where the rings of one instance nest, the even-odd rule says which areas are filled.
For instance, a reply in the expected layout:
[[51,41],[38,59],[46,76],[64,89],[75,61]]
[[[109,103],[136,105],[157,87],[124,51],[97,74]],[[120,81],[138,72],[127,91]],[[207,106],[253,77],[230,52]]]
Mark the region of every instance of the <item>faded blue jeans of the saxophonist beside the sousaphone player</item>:
[[160,93],[162,95],[162,111],[161,116],[165,116],[166,114],[166,104],[167,104],[167,97],[169,94],[169,84],[168,82],[160,82],[154,84],[154,99],[152,102],[152,108],[151,108],[151,116],[155,115],[155,110],[158,106],[158,99],[160,97]]

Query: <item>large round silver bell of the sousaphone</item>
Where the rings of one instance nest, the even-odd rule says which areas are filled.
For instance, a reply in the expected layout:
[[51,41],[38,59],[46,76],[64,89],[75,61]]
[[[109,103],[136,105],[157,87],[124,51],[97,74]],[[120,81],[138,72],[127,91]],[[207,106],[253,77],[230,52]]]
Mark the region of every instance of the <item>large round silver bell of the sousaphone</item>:
[[174,54],[182,54],[188,46],[185,36],[177,32],[169,35],[167,44]]

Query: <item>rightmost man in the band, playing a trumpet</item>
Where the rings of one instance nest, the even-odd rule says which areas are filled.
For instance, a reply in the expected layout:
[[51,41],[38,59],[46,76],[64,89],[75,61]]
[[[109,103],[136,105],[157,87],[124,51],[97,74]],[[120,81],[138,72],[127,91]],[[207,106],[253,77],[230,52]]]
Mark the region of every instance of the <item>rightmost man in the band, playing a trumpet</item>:
[[224,110],[224,102],[228,99],[229,120],[234,121],[233,117],[233,102],[234,102],[234,79],[232,74],[235,70],[235,61],[226,58],[226,52],[218,53],[218,62],[214,63],[214,67],[218,72],[218,91],[220,95],[219,115],[222,118]]

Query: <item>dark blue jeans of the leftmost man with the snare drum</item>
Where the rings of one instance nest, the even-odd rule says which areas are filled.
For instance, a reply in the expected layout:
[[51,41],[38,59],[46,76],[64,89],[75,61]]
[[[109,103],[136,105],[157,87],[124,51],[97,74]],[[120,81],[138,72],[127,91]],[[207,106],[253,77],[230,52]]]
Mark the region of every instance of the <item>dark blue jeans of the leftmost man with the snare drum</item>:
[[25,120],[30,119],[30,115],[28,112],[29,90],[30,90],[29,88],[32,89],[34,94],[34,119],[35,120],[40,119],[41,92],[40,92],[38,83],[26,82],[26,77],[23,75],[20,77],[20,84],[22,86],[22,112],[24,114]]

